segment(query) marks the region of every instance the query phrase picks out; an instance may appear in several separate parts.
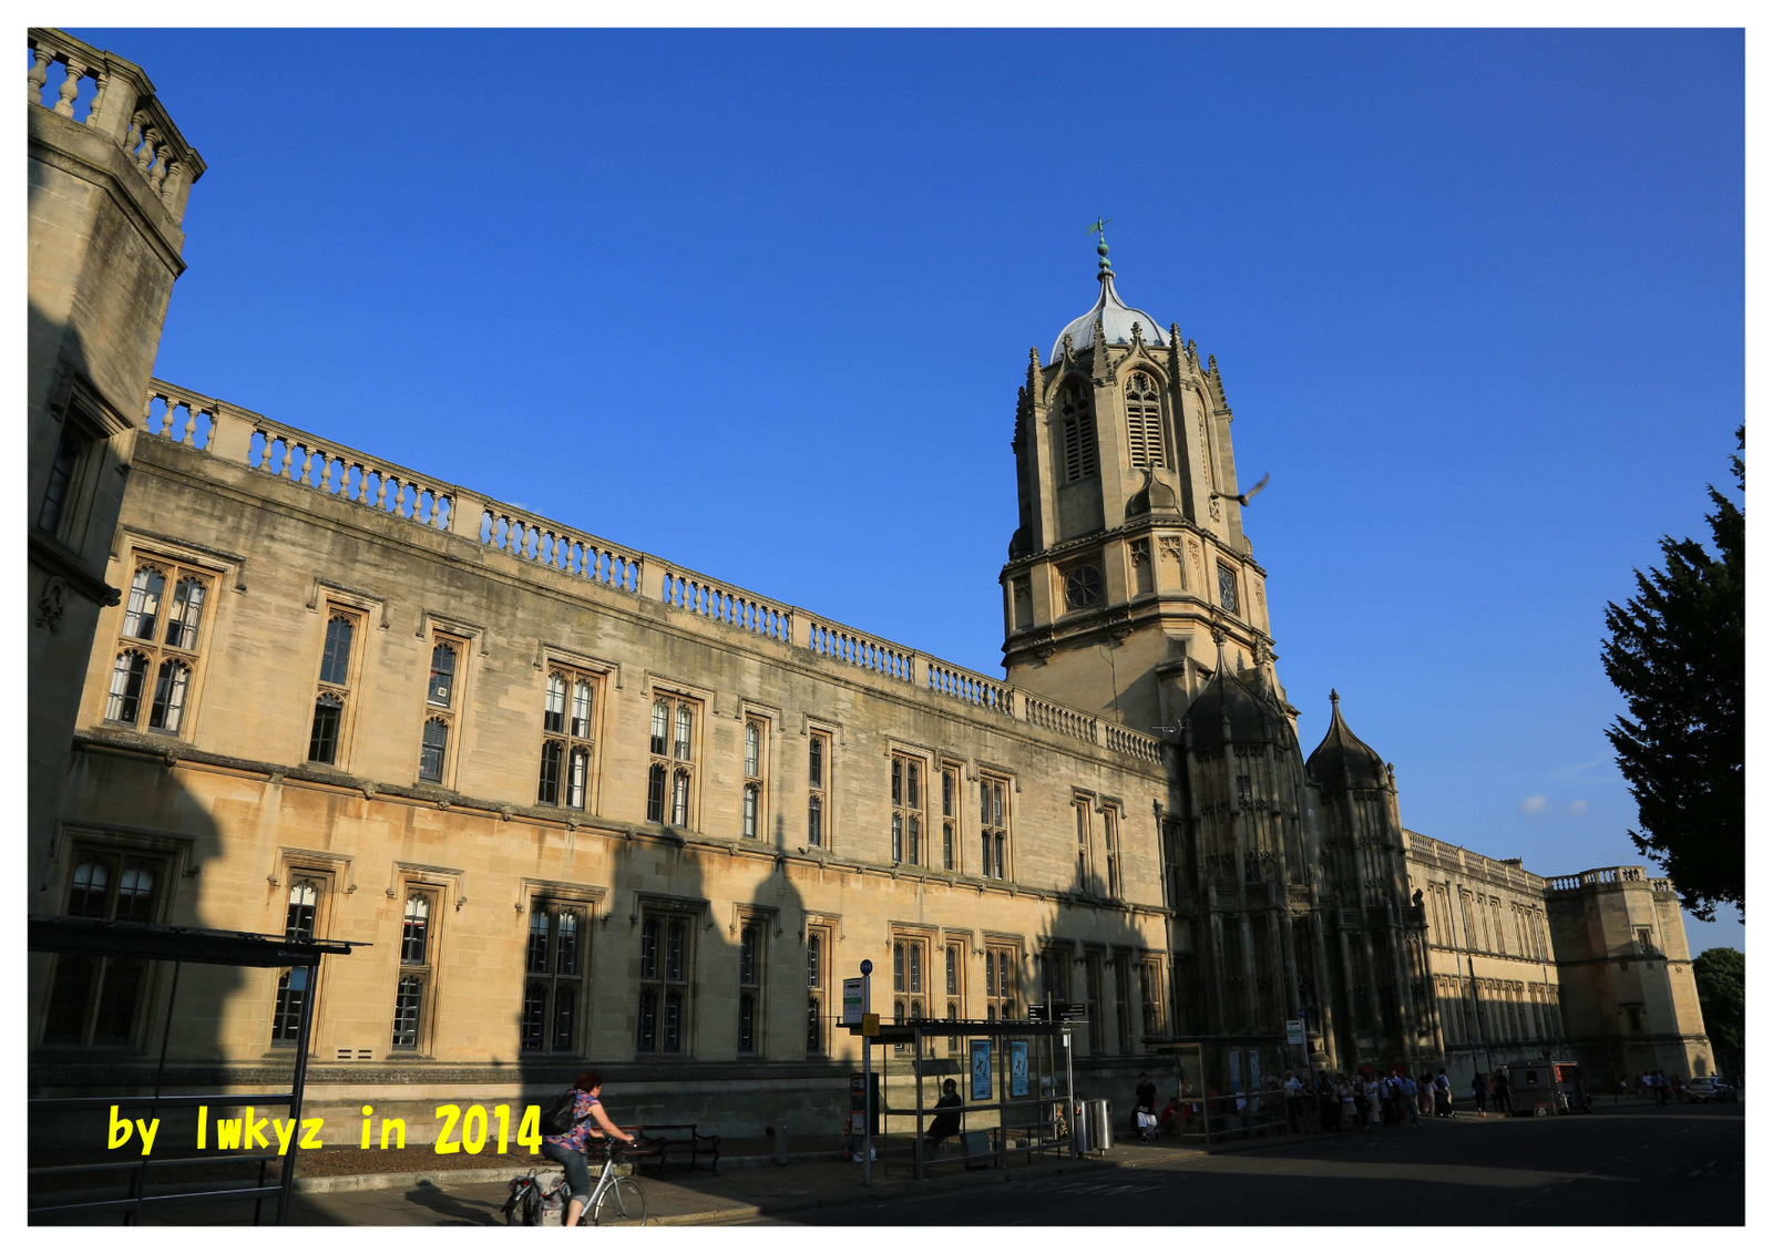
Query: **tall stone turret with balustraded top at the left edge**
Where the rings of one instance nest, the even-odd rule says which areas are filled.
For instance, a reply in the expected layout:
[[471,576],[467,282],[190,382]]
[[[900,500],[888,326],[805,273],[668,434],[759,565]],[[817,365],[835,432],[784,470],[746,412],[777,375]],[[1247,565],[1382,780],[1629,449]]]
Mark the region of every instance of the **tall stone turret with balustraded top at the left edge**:
[[27,34],[30,848],[55,831],[105,563],[147,402],[184,202],[204,174],[140,66]]

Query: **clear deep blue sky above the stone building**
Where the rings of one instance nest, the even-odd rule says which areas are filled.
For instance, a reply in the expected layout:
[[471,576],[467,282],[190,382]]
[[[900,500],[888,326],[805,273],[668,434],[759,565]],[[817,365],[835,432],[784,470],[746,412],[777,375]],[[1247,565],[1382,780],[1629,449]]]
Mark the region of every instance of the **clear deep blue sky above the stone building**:
[[1335,685],[1408,827],[1642,861],[1603,609],[1729,484],[1739,32],[74,34],[209,163],[161,377],[993,675],[1112,218],[1307,747]]

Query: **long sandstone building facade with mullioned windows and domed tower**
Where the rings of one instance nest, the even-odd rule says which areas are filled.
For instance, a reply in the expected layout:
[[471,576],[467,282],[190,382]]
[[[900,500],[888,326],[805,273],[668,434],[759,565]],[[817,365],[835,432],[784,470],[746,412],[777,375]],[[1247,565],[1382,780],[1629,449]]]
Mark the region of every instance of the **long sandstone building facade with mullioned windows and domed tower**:
[[34,1082],[145,1077],[165,1040],[168,1082],[262,1084],[314,999],[340,1118],[598,1063],[635,1118],[835,1126],[863,958],[890,1017],[1082,1004],[1105,1095],[1177,1045],[1213,1084],[1438,1063],[1461,967],[1555,1001],[1543,946],[1473,956],[1436,886],[1486,944],[1555,891],[1408,834],[1335,694],[1303,753],[1218,365],[1106,246],[1097,289],[1018,402],[1004,678],[144,379],[92,537],[122,595],[32,730],[66,778],[32,910],[363,948],[317,990],[184,972],[170,1015],[167,972],[39,962]]

